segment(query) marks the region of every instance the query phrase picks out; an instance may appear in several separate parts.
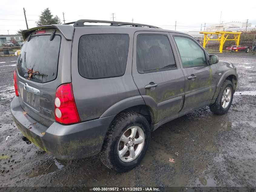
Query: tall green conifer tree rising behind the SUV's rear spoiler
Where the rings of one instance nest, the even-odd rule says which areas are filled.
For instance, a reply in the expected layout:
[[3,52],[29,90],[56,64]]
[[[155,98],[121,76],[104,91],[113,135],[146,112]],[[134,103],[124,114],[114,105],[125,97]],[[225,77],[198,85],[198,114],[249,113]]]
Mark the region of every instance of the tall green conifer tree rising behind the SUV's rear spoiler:
[[41,13],[41,16],[39,16],[38,22],[35,22],[35,23],[37,26],[42,26],[42,25],[61,24],[61,21],[57,15],[53,18],[52,12],[49,10],[49,8],[46,8]]

